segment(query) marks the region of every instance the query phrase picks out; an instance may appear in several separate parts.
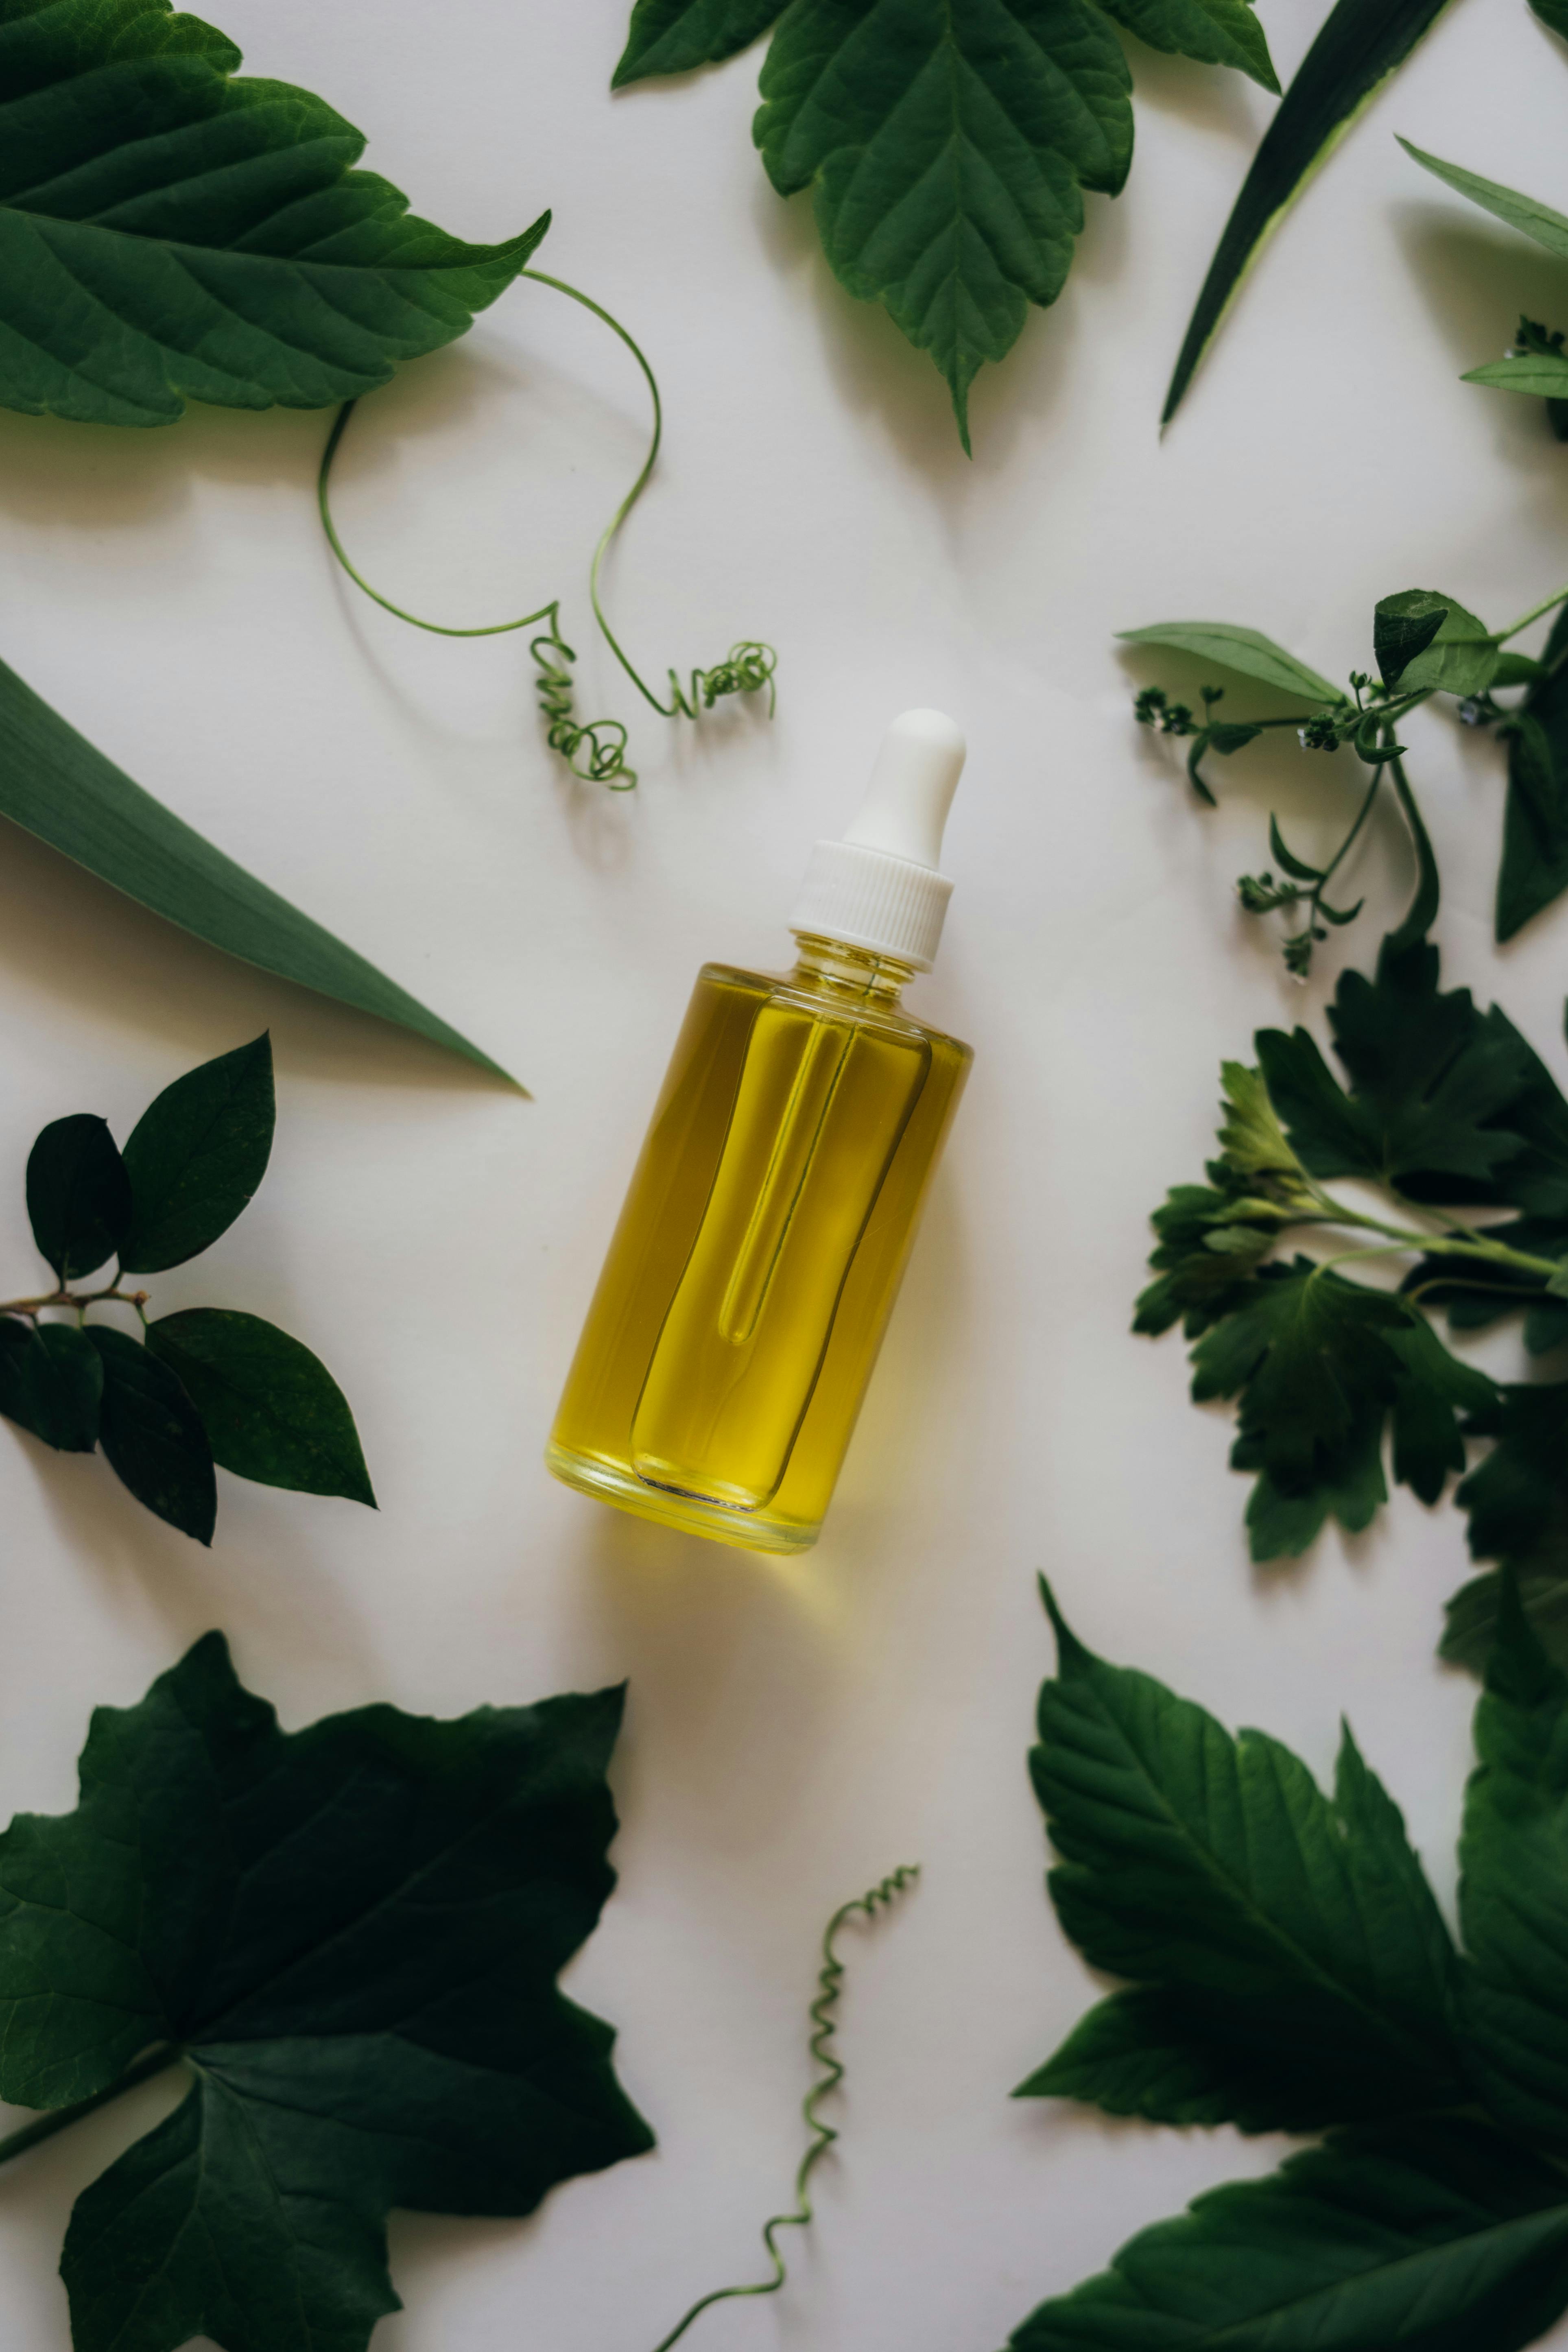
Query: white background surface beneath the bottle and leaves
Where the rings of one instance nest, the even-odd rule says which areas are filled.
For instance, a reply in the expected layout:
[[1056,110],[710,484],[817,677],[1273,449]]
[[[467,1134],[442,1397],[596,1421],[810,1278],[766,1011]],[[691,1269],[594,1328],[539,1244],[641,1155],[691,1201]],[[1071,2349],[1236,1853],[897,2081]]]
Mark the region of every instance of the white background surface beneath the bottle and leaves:
[[[1281,75],[1319,14],[1265,7]],[[1319,1771],[1347,1710],[1450,1889],[1472,1691],[1432,1649],[1458,1515],[1399,1494],[1366,1538],[1251,1571],[1229,1418],[1185,1402],[1175,1336],[1128,1336],[1145,1214],[1199,1171],[1220,1054],[1258,1023],[1321,1025],[1333,967],[1298,993],[1232,877],[1265,861],[1269,804],[1331,842],[1354,774],[1246,755],[1215,764],[1227,804],[1201,816],[1128,717],[1135,682],[1197,673],[1133,673],[1112,630],[1241,619],[1342,673],[1382,593],[1505,621],[1568,574],[1568,449],[1537,405],[1458,381],[1521,306],[1568,325],[1563,273],[1392,139],[1561,205],[1568,56],[1523,0],[1455,7],[1286,223],[1161,445],[1269,101],[1135,49],[1131,188],[1088,200],[1063,301],[976,386],[969,463],[931,365],[832,285],[806,202],[766,188],[757,56],[611,101],[609,0],[228,0],[221,21],[249,71],[362,125],[369,165],[444,226],[494,238],[555,207],[541,266],[625,318],[668,397],[616,623],[651,673],[771,637],[780,708],[665,727],[592,644],[585,560],[644,412],[618,346],[545,289],[367,405],[339,520],[435,616],[562,595],[583,713],[635,724],[625,797],[543,750],[520,640],[418,637],[334,574],[324,419],[136,435],[0,414],[5,659],[534,1089],[273,985],[5,835],[7,1294],[35,1277],[35,1129],[92,1108],[125,1136],[158,1087],[270,1025],[266,1188],[155,1296],[317,1348],[381,1510],[221,1477],[202,1552],[101,1461],[0,1430],[2,1811],[66,1809],[92,1703],[136,1698],[209,1625],[287,1724],[630,1677],[621,1891],[569,1987],[618,2023],[658,2152],[522,2225],[400,2216],[407,2312],[376,2352],[646,2352],[696,2293],[757,2274],[799,2152],[820,1922],[898,1860],[926,1877],[851,1952],[818,2230],[783,2298],[696,2340],[994,2352],[1135,2225],[1276,2154],[1009,2105],[1095,1992],[1044,1900],[1025,1780],[1034,1571],[1091,1644]],[[971,739],[959,889],[914,1004],[978,1061],[827,1534],[769,1564],[555,1486],[541,1446],[693,969],[788,960],[806,847],[907,703]],[[1490,946],[1500,755],[1427,713],[1410,743],[1446,978],[1500,995],[1568,1077],[1568,908]],[[1368,962],[1408,887],[1392,821],[1361,884],[1340,953]],[[7,2352],[63,2352],[71,2201],[167,2103],[153,2086],[7,2176]]]

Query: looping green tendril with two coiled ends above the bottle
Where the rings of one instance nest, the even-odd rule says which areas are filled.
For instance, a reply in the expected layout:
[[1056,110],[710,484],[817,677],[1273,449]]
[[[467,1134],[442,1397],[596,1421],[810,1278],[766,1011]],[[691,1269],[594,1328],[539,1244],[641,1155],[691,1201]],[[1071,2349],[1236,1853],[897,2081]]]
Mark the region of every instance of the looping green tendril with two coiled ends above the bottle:
[[[773,652],[771,644],[759,644],[755,637],[743,637],[738,644],[731,644],[724,661],[715,661],[710,670],[693,670],[689,691],[682,687],[677,673],[670,670],[668,703],[658,701],[654,689],[644,684],[632,661],[623,652],[621,640],[604,619],[604,607],[599,602],[599,572],[616,539],[616,532],[621,529],[630,510],[637,506],[637,499],[646,489],[649,475],[654,473],[654,463],[658,461],[658,445],[665,430],[665,412],[658,397],[658,381],[642,348],[632,341],[621,320],[611,318],[609,310],[604,310],[597,301],[592,301],[588,294],[578,294],[578,289],[569,287],[564,278],[545,278],[543,270],[520,270],[517,275],[531,278],[541,287],[555,287],[557,294],[567,294],[571,301],[581,303],[583,310],[592,310],[597,320],[604,320],[611,334],[618,334],[630,355],[637,360],[637,367],[642,369],[644,383],[654,400],[654,437],[649,442],[649,454],[642,463],[642,473],[637,475],[625,499],[621,501],[616,513],[609,517],[604,532],[599,534],[599,543],[592,550],[592,564],[588,572],[588,597],[592,602],[592,616],[599,623],[599,630],[604,633],[604,642],[609,644],[611,654],[616,656],[625,675],[632,680],[642,699],[651,703],[654,710],[658,710],[658,715],[665,720],[672,717],[693,720],[698,710],[712,710],[712,706],[724,694],[759,694],[764,687],[769,694],[769,717],[771,717],[773,670],[778,668],[778,654]],[[611,793],[630,793],[630,788],[637,783],[637,769],[625,764],[628,736],[621,720],[576,717],[576,708],[571,701],[574,691],[571,663],[576,661],[576,652],[562,637],[559,597],[550,604],[541,604],[538,612],[524,612],[522,619],[517,621],[489,621],[482,628],[449,628],[442,621],[421,621],[416,612],[404,612],[402,604],[393,604],[393,600],[381,595],[378,588],[371,588],[364,574],[357,572],[355,564],[348,560],[348,550],[339,539],[336,524],[331,520],[327,482],[331,477],[331,461],[339,454],[339,442],[343,440],[348,419],[353,416],[357,405],[360,405],[357,400],[346,400],[339,414],[334,416],[331,433],[327,435],[327,447],[322,449],[322,468],[315,477],[315,503],[322,510],[322,529],[327,532],[327,543],[336,555],[336,560],[343,564],[343,572],[348,572],[355,588],[362,588],[364,595],[374,604],[381,604],[383,612],[390,612],[397,621],[407,621],[409,628],[428,628],[435,637],[505,637],[515,628],[531,628],[536,621],[548,621],[550,626],[538,637],[529,640],[529,654],[534,656],[534,663],[538,668],[534,687],[538,694],[541,715],[545,720],[545,741],[550,743],[550,750],[557,750],[562,760],[567,760],[574,776],[581,776],[585,783],[607,783]]]

